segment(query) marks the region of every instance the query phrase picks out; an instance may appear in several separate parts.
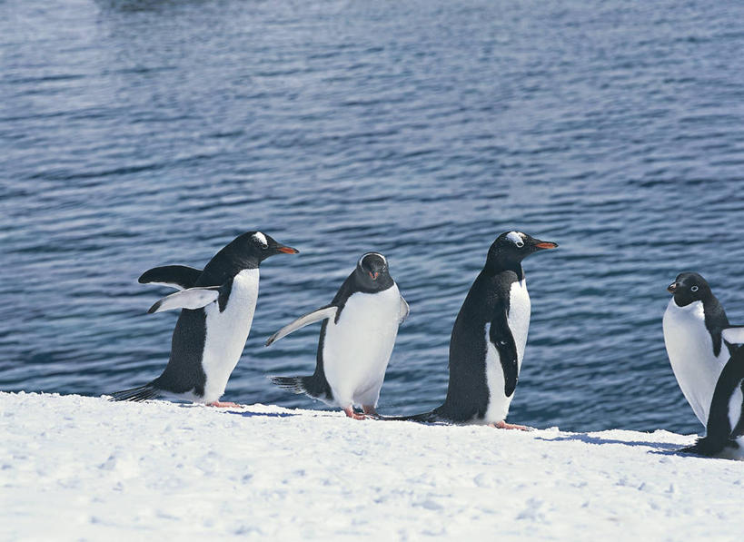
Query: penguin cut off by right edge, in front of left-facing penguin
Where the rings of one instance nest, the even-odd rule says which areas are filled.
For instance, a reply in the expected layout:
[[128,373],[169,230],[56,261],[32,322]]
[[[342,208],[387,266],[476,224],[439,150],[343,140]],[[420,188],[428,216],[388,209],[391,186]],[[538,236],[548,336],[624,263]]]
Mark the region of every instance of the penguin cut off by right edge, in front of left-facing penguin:
[[[731,328],[729,328],[731,330]],[[738,328],[737,333],[744,334]],[[724,330],[724,333],[726,331]],[[731,331],[733,333],[733,331]],[[740,342],[742,337],[738,337]],[[703,456],[742,458],[744,452],[744,348],[734,350],[720,372],[710,401],[706,435],[680,452]]]

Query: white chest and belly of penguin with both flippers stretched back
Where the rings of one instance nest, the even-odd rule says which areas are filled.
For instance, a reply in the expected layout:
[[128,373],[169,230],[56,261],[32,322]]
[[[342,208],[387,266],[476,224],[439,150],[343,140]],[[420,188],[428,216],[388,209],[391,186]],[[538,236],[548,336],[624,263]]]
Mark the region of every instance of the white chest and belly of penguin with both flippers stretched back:
[[218,301],[204,307],[204,402],[210,403],[222,397],[227,380],[240,360],[253,323],[253,312],[258,299],[258,279],[257,269],[239,272],[233,279],[233,288],[224,310],[220,312]]

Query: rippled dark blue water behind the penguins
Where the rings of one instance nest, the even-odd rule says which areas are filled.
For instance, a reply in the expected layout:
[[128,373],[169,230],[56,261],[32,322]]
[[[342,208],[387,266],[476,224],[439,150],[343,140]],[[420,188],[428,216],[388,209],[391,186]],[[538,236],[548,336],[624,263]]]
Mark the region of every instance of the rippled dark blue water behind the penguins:
[[175,314],[136,283],[237,233],[263,266],[226,400],[319,406],[318,326],[363,251],[411,304],[383,412],[429,409],[485,251],[521,229],[530,340],[510,419],[699,424],[661,333],[701,272],[744,323],[744,5],[0,2],[0,389],[101,394],[157,376]]

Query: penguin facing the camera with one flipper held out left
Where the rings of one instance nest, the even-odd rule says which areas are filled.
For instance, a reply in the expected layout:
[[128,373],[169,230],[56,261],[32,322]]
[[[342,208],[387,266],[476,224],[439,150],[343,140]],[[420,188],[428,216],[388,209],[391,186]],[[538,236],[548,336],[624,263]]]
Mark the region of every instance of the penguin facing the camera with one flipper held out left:
[[274,384],[341,407],[346,416],[377,416],[382,380],[408,303],[392,280],[382,254],[368,252],[343,281],[330,304],[301,316],[274,333],[266,346],[303,326],[323,320],[315,372],[309,377],[270,377]]

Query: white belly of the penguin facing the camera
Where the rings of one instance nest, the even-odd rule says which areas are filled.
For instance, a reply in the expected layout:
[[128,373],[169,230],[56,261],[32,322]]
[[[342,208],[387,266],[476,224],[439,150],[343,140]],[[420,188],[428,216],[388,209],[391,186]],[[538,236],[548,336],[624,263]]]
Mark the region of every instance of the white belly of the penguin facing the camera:
[[342,408],[375,406],[398,334],[401,293],[393,284],[376,293],[356,292],[338,323],[330,320],[322,344],[325,378]]

